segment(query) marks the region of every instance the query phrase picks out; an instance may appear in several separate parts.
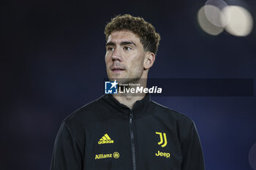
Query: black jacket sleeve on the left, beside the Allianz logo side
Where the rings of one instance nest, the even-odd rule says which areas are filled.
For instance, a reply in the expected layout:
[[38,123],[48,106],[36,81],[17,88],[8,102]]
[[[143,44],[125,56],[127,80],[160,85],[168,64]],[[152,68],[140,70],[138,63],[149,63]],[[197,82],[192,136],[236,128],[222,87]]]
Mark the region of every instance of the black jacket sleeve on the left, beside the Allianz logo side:
[[78,140],[72,134],[67,123],[59,128],[53,147],[50,170],[82,170],[83,152]]

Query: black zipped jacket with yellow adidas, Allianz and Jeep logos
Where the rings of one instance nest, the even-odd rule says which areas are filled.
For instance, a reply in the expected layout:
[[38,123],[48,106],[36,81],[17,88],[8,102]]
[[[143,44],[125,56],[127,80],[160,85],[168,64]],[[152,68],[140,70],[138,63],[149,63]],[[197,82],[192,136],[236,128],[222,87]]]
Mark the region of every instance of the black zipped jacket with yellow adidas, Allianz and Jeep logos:
[[133,109],[105,95],[61,124],[51,170],[203,170],[195,124],[151,101]]

